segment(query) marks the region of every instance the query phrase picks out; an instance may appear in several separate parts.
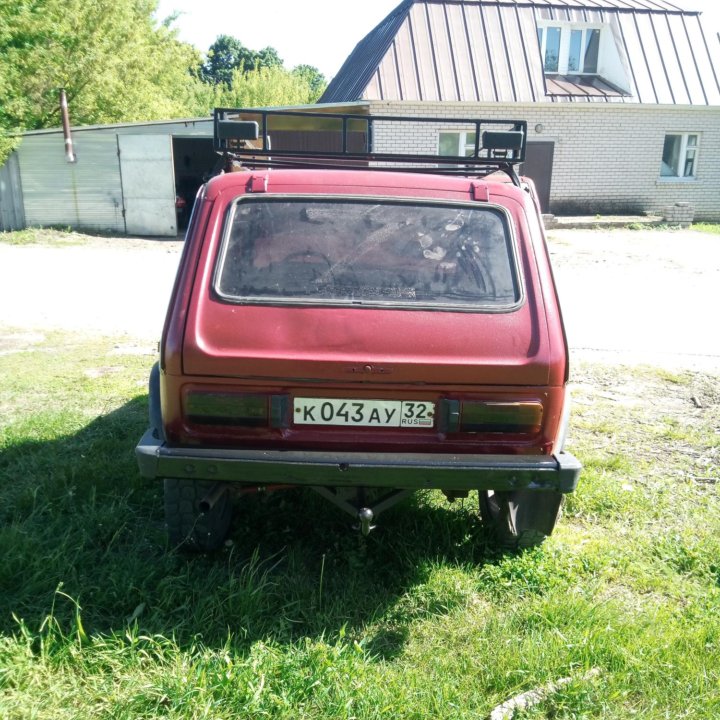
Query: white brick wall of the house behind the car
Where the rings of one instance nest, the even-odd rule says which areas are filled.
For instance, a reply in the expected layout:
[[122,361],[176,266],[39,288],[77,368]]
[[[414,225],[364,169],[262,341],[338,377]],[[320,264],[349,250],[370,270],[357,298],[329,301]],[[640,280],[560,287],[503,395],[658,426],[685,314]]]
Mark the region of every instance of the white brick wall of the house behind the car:
[[[720,107],[371,101],[370,112],[527,120],[528,141],[555,143],[550,209],[556,214],[662,214],[688,202],[696,220],[720,221]],[[436,152],[440,129],[419,123],[416,132],[399,139],[380,128],[375,149]],[[696,179],[660,178],[665,134],[672,132],[700,135]]]

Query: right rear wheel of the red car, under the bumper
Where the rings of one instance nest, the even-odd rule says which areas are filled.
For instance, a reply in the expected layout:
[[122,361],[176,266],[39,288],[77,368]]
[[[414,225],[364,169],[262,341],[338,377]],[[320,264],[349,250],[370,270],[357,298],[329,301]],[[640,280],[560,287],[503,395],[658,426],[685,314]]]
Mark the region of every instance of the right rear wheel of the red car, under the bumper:
[[540,545],[555,527],[563,498],[553,490],[479,490],[478,496],[483,523],[511,550]]

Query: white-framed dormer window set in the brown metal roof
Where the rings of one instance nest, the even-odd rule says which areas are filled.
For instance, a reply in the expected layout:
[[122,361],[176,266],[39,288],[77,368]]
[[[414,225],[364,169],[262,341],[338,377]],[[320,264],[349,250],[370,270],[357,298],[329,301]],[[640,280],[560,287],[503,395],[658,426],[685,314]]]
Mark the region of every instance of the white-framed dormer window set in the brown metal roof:
[[538,26],[546,73],[594,75],[598,71],[600,28],[577,25]]

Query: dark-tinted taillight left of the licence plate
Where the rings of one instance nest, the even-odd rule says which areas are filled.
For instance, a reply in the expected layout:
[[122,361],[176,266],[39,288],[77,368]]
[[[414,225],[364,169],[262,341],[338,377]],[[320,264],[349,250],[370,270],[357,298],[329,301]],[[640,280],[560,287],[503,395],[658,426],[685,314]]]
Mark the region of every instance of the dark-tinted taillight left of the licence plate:
[[192,390],[185,395],[185,416],[198,425],[278,427],[285,416],[284,395],[245,395]]

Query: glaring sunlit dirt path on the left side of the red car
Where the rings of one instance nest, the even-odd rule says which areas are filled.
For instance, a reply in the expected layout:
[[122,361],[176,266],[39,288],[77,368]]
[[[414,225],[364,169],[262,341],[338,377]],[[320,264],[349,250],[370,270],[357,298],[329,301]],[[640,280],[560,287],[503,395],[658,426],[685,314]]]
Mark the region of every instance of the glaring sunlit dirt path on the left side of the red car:
[[0,244],[0,328],[160,338],[181,242]]

